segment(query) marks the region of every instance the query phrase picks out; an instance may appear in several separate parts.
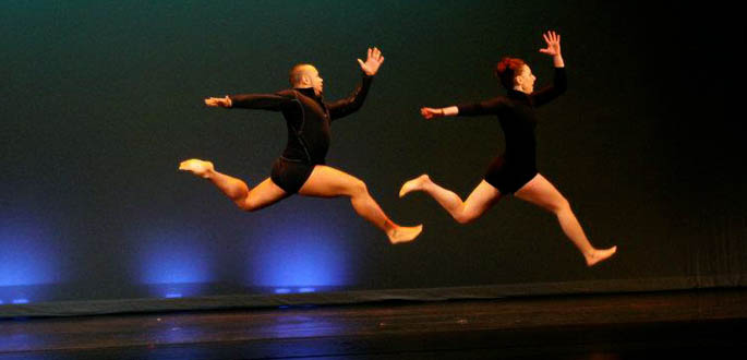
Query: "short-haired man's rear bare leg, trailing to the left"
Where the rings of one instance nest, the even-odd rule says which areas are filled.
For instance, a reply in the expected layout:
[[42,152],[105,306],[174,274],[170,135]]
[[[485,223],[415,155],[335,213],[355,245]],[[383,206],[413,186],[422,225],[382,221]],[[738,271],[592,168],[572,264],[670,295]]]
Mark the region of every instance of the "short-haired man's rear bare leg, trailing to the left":
[[179,169],[209,180],[237,206],[248,212],[269,206],[288,196],[270,179],[265,179],[250,190],[246,183],[240,179],[216,171],[210,161],[189,159],[182,161]]

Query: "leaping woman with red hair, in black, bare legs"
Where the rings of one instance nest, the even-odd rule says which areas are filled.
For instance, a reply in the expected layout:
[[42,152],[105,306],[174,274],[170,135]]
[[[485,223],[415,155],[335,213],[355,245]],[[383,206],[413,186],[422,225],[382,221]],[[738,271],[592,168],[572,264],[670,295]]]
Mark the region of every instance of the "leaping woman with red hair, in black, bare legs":
[[555,81],[553,85],[534,91],[535,77],[521,59],[504,58],[497,63],[495,74],[507,89],[507,96],[490,100],[450,106],[446,108],[421,108],[425,119],[454,116],[496,115],[506,139],[506,149],[487,168],[484,179],[467,201],[454,192],[433,182],[427,175],[407,181],[399,196],[412,191],[431,195],[460,224],[470,223],[484,214],[502,197],[516,197],[538,205],[557,216],[561,228],[581,251],[587,265],[592,266],[612,256],[617,247],[595,249],[591,245],[581,225],[570,209],[568,201],[537,171],[535,139],[537,115],[534,108],[547,104],[566,91],[566,74],[561,56],[561,35],[554,32],[543,34],[547,46],[540,52],[553,58]]

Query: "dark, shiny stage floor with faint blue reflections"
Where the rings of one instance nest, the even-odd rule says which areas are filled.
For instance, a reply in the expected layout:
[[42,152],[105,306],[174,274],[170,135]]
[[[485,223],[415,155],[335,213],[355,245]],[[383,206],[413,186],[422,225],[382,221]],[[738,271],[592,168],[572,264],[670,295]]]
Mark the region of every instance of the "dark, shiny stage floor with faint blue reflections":
[[712,358],[747,289],[0,320],[8,359]]

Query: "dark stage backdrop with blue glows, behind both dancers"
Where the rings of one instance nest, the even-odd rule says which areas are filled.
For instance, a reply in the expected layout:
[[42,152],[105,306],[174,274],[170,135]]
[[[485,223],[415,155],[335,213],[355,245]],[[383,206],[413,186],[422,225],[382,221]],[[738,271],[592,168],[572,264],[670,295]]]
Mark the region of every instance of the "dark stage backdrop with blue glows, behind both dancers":
[[[725,3],[0,9],[5,313],[71,300],[745,285],[744,41]],[[569,91],[539,110],[538,165],[592,242],[619,247],[594,268],[551,214],[517,199],[461,226],[423,194],[397,197],[423,172],[469,194],[504,146],[496,118],[425,121],[418,109],[503,94],[492,68],[505,55],[525,58],[538,85],[550,82],[552,61],[538,52],[546,29],[563,36]],[[242,213],[177,171],[200,157],[250,185],[267,178],[286,141],[281,116],[208,109],[202,99],[286,88],[298,62],[316,64],[326,98],[340,98],[369,46],[386,61],[363,108],[334,123],[327,160],[365,180],[395,221],[424,224],[413,243],[390,245],[346,199],[293,196]]]

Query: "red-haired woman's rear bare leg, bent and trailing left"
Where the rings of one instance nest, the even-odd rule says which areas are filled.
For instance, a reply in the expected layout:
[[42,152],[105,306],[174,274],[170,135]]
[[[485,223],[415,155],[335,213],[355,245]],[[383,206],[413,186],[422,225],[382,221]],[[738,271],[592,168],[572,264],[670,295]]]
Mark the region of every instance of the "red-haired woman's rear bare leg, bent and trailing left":
[[427,175],[421,175],[406,182],[399,190],[399,197],[407,195],[411,191],[423,191],[431,195],[459,224],[467,224],[479,218],[501,200],[498,189],[495,189],[485,180],[482,180],[472,190],[472,193],[465,202],[453,191],[433,182]]

